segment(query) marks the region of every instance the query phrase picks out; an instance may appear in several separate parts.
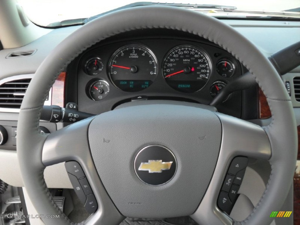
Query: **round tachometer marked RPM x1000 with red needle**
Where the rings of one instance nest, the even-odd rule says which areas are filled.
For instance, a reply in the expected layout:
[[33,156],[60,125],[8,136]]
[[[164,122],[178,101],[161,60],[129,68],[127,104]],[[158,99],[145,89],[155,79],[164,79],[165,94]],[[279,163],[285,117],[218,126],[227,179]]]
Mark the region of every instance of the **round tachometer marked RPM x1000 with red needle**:
[[157,60],[144,46],[129,45],[118,49],[109,64],[110,79],[123,91],[141,91],[156,78]]

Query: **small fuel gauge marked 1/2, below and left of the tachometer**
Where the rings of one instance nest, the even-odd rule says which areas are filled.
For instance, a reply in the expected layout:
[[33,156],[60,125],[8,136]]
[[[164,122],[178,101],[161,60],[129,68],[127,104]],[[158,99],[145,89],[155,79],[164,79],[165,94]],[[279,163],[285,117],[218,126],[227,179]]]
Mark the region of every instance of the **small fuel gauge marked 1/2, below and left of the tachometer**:
[[90,83],[87,94],[92,100],[99,101],[104,99],[109,92],[110,85],[101,79]]

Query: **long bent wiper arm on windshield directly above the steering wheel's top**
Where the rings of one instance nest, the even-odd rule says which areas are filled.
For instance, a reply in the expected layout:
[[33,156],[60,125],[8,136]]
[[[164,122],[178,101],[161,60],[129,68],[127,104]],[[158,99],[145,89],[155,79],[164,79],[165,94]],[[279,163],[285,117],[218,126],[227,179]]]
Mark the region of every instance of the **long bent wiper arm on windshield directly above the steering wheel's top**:
[[101,13],[95,16],[91,16],[89,18],[86,18],[83,23],[87,23],[90,22],[93,19],[96,19],[100,16],[103,16],[107,13],[111,13],[111,12],[115,12],[121,9],[127,9],[127,8],[131,8],[131,7],[138,7],[138,6],[146,6],[146,5],[167,5],[167,6],[175,6],[175,7],[184,7],[184,8],[190,8],[190,9],[218,9],[218,10],[235,10],[237,9],[235,6],[226,6],[226,5],[213,5],[213,4],[175,4],[175,3],[159,3],[159,2],[149,2],[149,1],[139,1],[139,2],[135,2],[135,3],[131,3],[113,10],[110,10],[108,12],[105,13]]

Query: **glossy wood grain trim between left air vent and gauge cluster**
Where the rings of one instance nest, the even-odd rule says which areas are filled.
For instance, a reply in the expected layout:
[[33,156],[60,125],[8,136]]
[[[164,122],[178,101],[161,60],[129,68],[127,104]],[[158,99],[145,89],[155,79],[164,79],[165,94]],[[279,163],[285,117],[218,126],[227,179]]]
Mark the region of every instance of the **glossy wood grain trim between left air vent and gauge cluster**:
[[65,106],[64,92],[66,87],[66,77],[67,77],[66,72],[62,72],[55,80],[52,86],[52,98],[51,98],[52,105],[57,105],[60,107]]

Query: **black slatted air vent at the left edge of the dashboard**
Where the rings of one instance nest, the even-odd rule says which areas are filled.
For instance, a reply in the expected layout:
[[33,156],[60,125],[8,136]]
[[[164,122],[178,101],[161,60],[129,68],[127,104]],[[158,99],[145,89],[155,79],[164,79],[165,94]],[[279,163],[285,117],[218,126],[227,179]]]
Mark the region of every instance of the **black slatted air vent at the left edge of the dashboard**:
[[0,85],[0,107],[19,109],[30,80],[19,79]]

